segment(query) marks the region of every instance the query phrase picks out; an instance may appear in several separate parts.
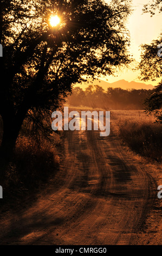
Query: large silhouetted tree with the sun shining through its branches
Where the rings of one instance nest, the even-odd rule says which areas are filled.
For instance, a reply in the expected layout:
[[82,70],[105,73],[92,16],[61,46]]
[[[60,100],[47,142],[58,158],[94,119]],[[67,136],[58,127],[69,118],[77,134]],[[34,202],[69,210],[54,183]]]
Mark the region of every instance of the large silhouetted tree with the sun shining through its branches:
[[[111,75],[131,61],[129,1],[1,1],[1,158],[10,159],[27,114],[60,104],[85,75]],[[51,27],[51,15],[60,24]]]

